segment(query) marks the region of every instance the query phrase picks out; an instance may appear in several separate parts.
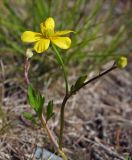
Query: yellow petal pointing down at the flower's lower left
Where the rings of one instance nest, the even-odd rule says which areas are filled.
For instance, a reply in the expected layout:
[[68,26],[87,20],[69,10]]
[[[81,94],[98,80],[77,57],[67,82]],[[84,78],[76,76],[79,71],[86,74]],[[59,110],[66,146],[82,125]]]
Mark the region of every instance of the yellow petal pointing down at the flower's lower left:
[[50,40],[49,39],[41,39],[34,45],[34,50],[37,53],[42,53],[49,48]]

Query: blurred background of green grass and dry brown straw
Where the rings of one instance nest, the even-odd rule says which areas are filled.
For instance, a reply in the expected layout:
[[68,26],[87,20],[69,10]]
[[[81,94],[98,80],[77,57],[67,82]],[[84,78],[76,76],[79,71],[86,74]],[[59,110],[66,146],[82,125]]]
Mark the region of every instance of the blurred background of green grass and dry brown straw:
[[[68,152],[70,157],[76,160],[79,155],[78,160],[88,160],[93,156],[92,158],[96,160],[98,155],[104,160],[110,160],[111,157],[107,153],[105,156],[101,153],[103,151],[94,147],[93,143],[86,139],[103,141],[106,146],[112,146],[121,156],[129,154],[132,152],[131,132],[129,133],[132,126],[124,130],[121,126],[123,124],[127,126],[127,120],[132,120],[130,116],[132,113],[132,1],[1,0],[1,159],[14,157],[24,159],[27,153],[31,156],[35,145],[52,150],[50,144],[45,142],[48,141],[46,134],[43,135],[40,128],[36,129],[33,124],[27,124],[21,119],[21,114],[30,110],[26,100],[24,62],[26,49],[31,45],[22,43],[20,37],[26,30],[40,32],[40,23],[50,16],[55,19],[56,30],[66,29],[76,32],[70,35],[71,48],[60,50],[67,67],[70,84],[82,74],[87,74],[89,78],[96,75],[111,65],[108,62],[117,60],[121,55],[128,57],[129,61],[125,70],[114,71],[108,77],[91,84],[68,103],[64,144],[70,150]],[[58,134],[59,105],[64,96],[61,70],[52,48],[43,54],[34,53],[30,61],[31,82],[41,90],[47,100],[53,99],[56,105],[56,116],[54,123],[51,122],[51,127]],[[118,130],[121,132],[119,139]],[[20,149],[13,146],[18,146]]]

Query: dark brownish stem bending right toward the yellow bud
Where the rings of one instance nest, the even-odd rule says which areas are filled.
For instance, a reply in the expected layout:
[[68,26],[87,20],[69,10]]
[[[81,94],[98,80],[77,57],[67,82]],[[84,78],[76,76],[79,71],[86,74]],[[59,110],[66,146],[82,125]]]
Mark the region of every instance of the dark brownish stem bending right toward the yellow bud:
[[112,70],[116,69],[117,66],[113,65],[111,68],[109,68],[108,70],[103,71],[102,73],[100,73],[99,75],[91,78],[90,80],[86,81],[85,83],[82,84],[82,86],[80,86],[80,88],[78,88],[77,90],[74,90],[74,92],[70,92],[69,94],[66,94],[62,105],[61,105],[61,113],[60,113],[60,134],[59,134],[59,148],[62,150],[62,140],[63,140],[63,131],[64,131],[64,111],[65,111],[65,105],[67,100],[74,95],[78,90],[80,90],[81,88],[83,88],[84,86],[88,85],[89,83],[101,78],[102,76],[104,76],[105,74],[111,72]]

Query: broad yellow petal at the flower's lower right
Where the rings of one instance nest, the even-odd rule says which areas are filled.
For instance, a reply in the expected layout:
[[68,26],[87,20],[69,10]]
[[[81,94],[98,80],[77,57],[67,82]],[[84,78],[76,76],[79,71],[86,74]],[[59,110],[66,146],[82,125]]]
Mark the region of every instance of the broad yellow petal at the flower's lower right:
[[69,37],[53,37],[51,41],[62,49],[68,49],[71,46],[71,39]]

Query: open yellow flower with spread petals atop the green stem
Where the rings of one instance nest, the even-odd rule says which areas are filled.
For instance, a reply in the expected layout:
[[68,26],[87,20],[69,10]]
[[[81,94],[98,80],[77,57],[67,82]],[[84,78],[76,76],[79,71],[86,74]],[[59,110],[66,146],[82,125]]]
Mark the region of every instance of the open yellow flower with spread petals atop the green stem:
[[71,45],[71,39],[61,36],[73,31],[65,30],[55,32],[54,28],[54,19],[49,17],[40,24],[41,33],[25,31],[21,36],[21,40],[27,43],[35,43],[34,50],[37,53],[46,51],[49,48],[50,42],[62,49],[68,49]]

